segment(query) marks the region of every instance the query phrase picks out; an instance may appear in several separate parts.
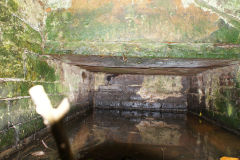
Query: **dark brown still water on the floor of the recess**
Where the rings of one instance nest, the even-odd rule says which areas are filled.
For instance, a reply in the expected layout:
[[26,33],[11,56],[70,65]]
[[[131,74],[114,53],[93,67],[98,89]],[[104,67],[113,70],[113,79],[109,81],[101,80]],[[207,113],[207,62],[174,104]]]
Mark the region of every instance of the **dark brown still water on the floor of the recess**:
[[[189,114],[97,110],[66,124],[66,129],[80,160],[240,157],[240,137]],[[49,135],[9,158],[57,159],[57,152]]]

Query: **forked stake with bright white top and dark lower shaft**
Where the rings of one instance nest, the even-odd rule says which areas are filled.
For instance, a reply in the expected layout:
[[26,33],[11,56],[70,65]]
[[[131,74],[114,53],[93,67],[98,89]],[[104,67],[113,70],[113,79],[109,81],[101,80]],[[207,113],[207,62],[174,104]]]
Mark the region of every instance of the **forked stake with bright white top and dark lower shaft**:
[[32,87],[29,94],[36,105],[37,113],[43,117],[44,124],[51,128],[60,158],[62,160],[73,160],[73,154],[62,123],[63,117],[70,109],[68,99],[63,99],[58,108],[53,108],[41,85]]

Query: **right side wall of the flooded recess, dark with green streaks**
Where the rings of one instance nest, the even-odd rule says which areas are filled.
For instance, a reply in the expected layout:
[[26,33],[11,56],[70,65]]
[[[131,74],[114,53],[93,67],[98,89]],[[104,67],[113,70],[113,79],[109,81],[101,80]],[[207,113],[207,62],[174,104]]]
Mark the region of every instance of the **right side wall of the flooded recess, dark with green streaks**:
[[239,65],[211,69],[190,77],[188,109],[239,133]]

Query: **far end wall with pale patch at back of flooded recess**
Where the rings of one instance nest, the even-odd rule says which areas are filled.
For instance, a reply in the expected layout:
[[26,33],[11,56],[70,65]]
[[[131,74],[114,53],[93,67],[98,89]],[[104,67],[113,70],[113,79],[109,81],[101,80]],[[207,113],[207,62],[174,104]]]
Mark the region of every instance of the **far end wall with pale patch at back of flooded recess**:
[[95,73],[94,107],[186,111],[187,78]]

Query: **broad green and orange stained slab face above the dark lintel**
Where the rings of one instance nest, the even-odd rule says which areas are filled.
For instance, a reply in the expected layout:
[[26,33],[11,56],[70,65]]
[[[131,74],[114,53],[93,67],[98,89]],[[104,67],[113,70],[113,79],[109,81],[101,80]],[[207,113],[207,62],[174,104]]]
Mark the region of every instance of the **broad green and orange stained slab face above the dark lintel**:
[[[58,2],[47,10],[49,53],[71,50],[78,54],[132,54],[134,50],[135,55],[148,56],[149,51],[158,54],[159,48],[145,47],[146,42],[239,43],[240,16],[236,0],[64,2],[67,4]],[[103,46],[102,42],[109,44]],[[119,45],[124,42],[127,43]],[[166,49],[167,53],[168,50],[171,47]],[[191,49],[185,51],[192,54]]]

